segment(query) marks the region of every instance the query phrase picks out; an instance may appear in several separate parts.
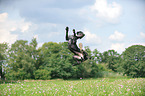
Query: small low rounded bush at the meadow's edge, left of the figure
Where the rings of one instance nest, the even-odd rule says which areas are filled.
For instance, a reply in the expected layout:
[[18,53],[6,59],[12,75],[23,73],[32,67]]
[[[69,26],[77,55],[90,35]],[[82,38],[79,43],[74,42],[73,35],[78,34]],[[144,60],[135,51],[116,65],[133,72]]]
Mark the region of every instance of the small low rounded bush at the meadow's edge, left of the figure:
[[35,79],[48,80],[51,78],[50,72],[46,69],[38,69],[34,73]]

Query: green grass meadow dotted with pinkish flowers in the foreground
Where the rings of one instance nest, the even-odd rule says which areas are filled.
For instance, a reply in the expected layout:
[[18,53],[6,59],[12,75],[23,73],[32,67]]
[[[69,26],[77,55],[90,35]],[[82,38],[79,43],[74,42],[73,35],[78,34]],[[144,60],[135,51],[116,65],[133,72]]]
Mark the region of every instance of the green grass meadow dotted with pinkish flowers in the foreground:
[[145,96],[145,78],[25,80],[0,84],[0,96]]

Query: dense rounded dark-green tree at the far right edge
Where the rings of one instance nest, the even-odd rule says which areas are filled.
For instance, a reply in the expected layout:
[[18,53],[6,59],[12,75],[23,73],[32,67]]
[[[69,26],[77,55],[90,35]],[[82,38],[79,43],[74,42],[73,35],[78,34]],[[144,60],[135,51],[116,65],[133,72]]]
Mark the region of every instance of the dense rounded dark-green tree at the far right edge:
[[124,74],[145,77],[145,46],[133,45],[122,53]]

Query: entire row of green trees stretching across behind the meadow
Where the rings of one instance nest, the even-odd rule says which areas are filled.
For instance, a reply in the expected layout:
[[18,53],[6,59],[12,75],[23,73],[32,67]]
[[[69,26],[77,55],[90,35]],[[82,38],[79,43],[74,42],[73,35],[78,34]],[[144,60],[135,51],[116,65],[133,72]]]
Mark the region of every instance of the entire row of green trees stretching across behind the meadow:
[[132,45],[119,54],[115,50],[85,51],[91,59],[80,65],[68,50],[67,42],[46,42],[37,48],[37,40],[17,40],[10,47],[0,44],[0,76],[7,80],[78,79],[103,77],[105,72],[116,72],[130,77],[145,77],[145,46]]

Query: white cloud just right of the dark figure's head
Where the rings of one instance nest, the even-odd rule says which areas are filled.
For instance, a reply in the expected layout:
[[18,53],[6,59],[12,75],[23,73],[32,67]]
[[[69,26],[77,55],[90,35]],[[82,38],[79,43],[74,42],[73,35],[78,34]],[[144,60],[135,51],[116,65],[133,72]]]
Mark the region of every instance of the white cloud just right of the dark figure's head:
[[84,30],[85,40],[89,44],[99,44],[101,43],[101,39],[96,34],[89,32],[87,29]]

